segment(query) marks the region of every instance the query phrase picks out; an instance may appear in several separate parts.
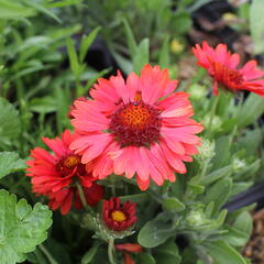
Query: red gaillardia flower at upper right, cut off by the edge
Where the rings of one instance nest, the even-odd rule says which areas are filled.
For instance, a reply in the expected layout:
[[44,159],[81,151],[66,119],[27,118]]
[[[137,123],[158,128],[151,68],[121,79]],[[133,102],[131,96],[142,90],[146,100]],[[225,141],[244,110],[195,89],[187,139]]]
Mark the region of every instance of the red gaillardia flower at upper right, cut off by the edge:
[[218,44],[216,50],[202,42],[196,44],[193,52],[198,59],[198,65],[207,69],[213,78],[213,95],[218,96],[218,86],[222,85],[229,91],[253,91],[264,96],[264,72],[256,68],[256,62],[250,61],[242,68],[239,54],[231,54],[226,44]]

